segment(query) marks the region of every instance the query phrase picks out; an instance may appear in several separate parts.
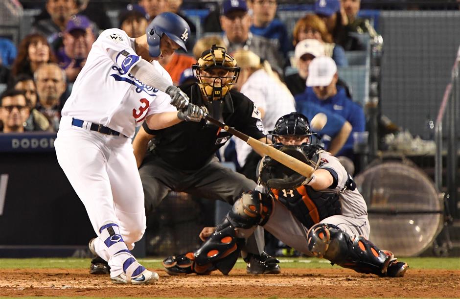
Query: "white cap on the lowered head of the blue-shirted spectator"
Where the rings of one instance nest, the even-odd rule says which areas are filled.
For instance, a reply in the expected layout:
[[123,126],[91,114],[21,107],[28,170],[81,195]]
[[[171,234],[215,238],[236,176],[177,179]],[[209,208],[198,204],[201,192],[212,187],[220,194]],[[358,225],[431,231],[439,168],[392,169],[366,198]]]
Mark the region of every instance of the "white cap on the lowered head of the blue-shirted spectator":
[[337,73],[337,66],[329,56],[313,59],[308,66],[307,86],[328,86]]

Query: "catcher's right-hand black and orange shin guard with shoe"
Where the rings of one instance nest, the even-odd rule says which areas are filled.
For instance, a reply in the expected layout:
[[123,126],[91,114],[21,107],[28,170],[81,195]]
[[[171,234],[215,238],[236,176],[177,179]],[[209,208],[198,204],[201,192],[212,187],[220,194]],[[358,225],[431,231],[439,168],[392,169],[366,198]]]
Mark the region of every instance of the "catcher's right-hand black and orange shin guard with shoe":
[[308,249],[313,255],[356,272],[399,277],[408,268],[406,263],[398,262],[391,252],[378,249],[362,236],[352,240],[335,225],[318,223],[310,228],[307,239]]

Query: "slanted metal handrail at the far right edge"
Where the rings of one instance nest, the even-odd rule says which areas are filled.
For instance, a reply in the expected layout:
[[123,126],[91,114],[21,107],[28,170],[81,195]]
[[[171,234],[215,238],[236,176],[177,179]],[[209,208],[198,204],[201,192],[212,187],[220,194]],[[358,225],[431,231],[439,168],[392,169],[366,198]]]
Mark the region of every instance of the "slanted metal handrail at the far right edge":
[[[460,76],[459,76],[459,62],[460,62],[460,47],[452,67],[451,81],[447,84],[444,95],[442,97],[441,105],[435,123],[435,184],[439,191],[445,187],[446,202],[451,208],[451,211],[456,213],[458,211],[458,186],[460,185],[460,178],[457,175],[457,166],[459,163],[459,126],[460,126]],[[446,182],[443,182],[443,155],[444,147],[443,141],[446,140]]]

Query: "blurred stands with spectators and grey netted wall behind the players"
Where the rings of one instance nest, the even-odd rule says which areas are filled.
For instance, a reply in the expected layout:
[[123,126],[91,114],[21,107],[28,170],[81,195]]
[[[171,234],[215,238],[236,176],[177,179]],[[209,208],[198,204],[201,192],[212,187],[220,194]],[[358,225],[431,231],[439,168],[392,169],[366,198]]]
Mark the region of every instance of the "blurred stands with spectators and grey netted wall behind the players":
[[[234,88],[256,103],[267,131],[289,112],[322,112],[325,148],[358,174],[381,151],[435,151],[459,8],[458,0],[2,0],[0,127],[57,132],[99,34],[116,27],[136,38],[169,11],[191,29],[188,52],[160,60],[174,84],[194,81],[201,53],[224,46],[241,68]],[[248,176],[252,155],[238,140],[219,153]]]

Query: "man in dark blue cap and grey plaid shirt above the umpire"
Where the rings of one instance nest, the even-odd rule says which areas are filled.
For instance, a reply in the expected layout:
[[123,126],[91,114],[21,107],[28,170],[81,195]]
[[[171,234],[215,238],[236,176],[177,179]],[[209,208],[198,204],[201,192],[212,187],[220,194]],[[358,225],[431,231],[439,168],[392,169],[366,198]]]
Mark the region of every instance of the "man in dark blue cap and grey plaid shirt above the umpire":
[[252,20],[245,0],[225,0],[220,23],[224,42],[229,52],[244,48],[267,60],[273,69],[282,73],[284,57],[278,54],[277,44],[262,36],[253,35],[249,28]]

